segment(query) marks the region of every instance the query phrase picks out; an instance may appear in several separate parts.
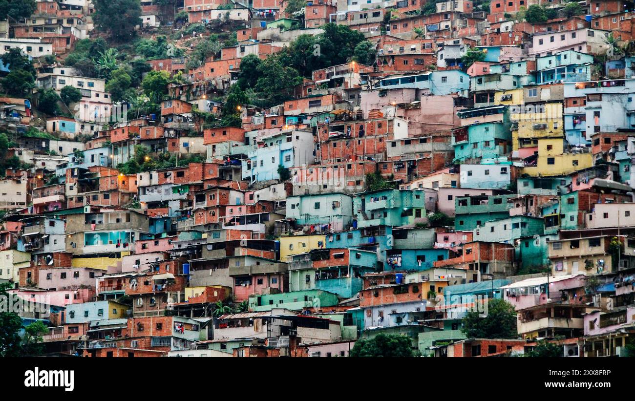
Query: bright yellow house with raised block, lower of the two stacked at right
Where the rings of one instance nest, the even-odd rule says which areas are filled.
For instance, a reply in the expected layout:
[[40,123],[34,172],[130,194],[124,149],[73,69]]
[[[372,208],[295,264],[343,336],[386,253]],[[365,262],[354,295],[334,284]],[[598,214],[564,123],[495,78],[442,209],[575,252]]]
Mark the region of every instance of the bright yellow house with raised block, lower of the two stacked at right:
[[591,152],[574,152],[565,148],[563,138],[538,139],[538,161],[535,167],[523,168],[532,177],[559,176],[593,166]]

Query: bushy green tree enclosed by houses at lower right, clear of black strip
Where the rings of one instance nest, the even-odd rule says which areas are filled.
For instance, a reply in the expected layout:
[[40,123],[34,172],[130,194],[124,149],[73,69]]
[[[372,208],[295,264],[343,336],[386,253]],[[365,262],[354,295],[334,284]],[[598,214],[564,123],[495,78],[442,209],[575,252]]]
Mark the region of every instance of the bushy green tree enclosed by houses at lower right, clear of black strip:
[[487,312],[481,317],[479,312],[467,312],[463,319],[464,332],[468,338],[518,338],[516,311],[514,305],[503,299],[487,301]]

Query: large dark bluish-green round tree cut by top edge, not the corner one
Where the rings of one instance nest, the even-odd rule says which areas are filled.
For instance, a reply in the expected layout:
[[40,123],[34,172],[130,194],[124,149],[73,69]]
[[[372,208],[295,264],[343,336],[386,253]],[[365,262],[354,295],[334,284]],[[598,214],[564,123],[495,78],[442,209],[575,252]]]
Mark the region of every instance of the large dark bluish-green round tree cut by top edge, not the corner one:
[[142,23],[139,0],[93,0],[93,21],[104,32],[119,41],[135,36],[135,27]]

